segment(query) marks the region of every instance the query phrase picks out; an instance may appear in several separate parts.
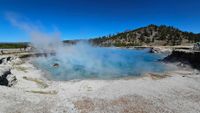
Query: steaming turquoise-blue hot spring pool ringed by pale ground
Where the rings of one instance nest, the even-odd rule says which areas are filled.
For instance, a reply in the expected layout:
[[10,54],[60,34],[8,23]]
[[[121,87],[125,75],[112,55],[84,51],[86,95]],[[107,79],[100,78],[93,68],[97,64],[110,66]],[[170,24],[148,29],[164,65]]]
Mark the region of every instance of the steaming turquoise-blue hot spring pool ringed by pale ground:
[[38,57],[33,63],[53,80],[114,79],[168,71],[158,61],[165,56],[149,53],[149,49],[71,47],[55,56]]

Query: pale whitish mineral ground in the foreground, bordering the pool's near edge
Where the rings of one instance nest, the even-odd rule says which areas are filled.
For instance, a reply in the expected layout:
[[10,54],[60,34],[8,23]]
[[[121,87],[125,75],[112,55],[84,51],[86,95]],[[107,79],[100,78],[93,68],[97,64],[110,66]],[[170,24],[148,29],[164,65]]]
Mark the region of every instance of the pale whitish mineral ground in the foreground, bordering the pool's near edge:
[[195,69],[137,79],[61,82],[47,80],[28,59],[1,65],[10,67],[17,83],[0,86],[0,113],[200,112],[200,73]]

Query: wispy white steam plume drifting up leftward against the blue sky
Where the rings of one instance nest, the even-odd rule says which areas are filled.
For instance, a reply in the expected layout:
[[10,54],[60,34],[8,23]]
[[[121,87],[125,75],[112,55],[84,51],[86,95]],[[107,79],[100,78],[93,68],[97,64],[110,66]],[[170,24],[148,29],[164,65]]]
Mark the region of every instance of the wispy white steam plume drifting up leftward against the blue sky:
[[28,18],[13,12],[7,12],[5,16],[13,26],[25,31],[29,35],[31,44],[39,52],[50,52],[61,45],[60,33],[58,31],[52,34],[42,32],[42,25],[33,25]]

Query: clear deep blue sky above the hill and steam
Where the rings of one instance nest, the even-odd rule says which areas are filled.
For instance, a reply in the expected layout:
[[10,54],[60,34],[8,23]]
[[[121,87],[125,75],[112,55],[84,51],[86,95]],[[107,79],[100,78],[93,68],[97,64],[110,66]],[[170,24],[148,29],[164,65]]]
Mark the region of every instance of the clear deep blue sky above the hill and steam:
[[23,30],[5,17],[12,12],[55,28],[61,38],[88,39],[143,27],[172,25],[200,32],[200,0],[0,0],[0,42],[29,41]]

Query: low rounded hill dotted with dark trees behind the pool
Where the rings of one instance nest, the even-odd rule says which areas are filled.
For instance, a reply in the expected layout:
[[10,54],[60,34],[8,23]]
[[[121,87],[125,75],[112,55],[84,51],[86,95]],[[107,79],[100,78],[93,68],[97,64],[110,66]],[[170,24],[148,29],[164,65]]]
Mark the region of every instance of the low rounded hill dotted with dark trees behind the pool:
[[200,42],[200,34],[184,32],[172,26],[149,25],[135,30],[121,32],[115,35],[90,39],[99,46],[173,46]]

